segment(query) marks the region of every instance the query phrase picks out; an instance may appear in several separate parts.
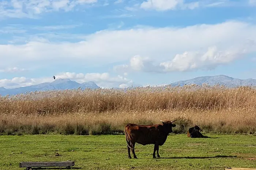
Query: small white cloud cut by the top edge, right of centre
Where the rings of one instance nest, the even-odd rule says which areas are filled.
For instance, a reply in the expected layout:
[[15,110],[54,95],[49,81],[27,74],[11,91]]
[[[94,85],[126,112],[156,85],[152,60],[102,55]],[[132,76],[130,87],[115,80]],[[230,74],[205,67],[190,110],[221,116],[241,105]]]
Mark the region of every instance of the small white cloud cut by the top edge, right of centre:
[[184,0],[147,0],[143,1],[140,8],[155,9],[157,11],[181,9],[195,9],[199,7],[199,2],[184,3]]

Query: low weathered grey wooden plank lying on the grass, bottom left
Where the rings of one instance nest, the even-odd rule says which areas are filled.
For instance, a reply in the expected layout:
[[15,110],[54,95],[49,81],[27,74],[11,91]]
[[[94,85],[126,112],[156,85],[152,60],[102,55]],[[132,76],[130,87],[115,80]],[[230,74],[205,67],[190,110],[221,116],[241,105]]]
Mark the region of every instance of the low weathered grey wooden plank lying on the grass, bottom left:
[[63,162],[20,162],[19,167],[51,167],[51,166],[74,166],[74,161]]

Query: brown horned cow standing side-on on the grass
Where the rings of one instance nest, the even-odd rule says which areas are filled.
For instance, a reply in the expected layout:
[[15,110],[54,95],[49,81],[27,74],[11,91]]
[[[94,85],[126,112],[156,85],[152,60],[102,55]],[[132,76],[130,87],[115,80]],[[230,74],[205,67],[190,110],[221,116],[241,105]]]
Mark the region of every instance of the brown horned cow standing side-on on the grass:
[[155,151],[157,151],[157,157],[159,158],[159,146],[162,146],[169,133],[172,133],[172,127],[175,127],[176,124],[172,124],[173,121],[162,121],[162,124],[154,125],[138,125],[128,123],[125,128],[125,139],[128,149],[128,158],[132,158],[130,154],[130,149],[132,150],[133,158],[136,158],[134,147],[135,143],[141,145],[154,144],[153,158],[155,158]]

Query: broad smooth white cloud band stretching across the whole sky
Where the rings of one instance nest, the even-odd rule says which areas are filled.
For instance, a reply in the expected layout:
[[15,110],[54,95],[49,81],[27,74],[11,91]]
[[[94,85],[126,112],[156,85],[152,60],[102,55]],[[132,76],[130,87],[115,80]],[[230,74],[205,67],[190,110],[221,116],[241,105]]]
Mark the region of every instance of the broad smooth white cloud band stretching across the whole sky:
[[[0,62],[0,65],[22,64],[30,61],[40,63],[52,59],[59,60],[58,63],[62,60],[76,59],[88,64],[95,62],[108,64],[124,62],[131,56],[139,54],[147,57],[143,59],[143,64],[151,66],[154,63],[149,59],[162,63],[172,60],[176,54],[183,54],[185,51],[202,54],[209,47],[216,47],[218,51],[247,48],[243,43],[248,40],[256,41],[255,30],[255,24],[227,21],[220,24],[198,24],[184,28],[140,27],[114,31],[103,30],[90,35],[79,35],[84,40],[75,43],[47,41],[46,37],[41,41],[38,36],[37,39],[22,45],[1,44],[0,60],[3,62]],[[140,60],[135,59],[133,67],[141,65],[138,62]]]

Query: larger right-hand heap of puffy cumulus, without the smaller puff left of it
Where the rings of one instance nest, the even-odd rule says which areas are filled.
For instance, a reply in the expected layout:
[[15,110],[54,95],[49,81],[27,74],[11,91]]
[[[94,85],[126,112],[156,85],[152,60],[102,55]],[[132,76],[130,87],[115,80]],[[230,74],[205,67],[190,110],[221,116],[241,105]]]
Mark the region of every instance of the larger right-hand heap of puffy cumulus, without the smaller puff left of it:
[[256,52],[255,44],[233,47],[225,51],[219,51],[216,46],[209,47],[206,52],[184,52],[177,54],[171,61],[160,63],[169,71],[192,71],[197,69],[211,70],[212,68],[232,62],[241,58],[247,52]]

